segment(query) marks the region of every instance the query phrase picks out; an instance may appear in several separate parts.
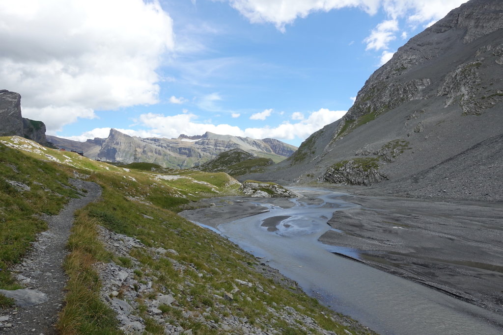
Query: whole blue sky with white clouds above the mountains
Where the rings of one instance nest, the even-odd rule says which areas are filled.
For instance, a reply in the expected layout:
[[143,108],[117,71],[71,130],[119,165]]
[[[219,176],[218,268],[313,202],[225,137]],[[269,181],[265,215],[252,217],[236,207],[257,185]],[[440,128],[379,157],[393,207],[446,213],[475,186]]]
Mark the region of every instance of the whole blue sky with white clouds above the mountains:
[[48,135],[299,146],[465,0],[0,0],[0,89]]

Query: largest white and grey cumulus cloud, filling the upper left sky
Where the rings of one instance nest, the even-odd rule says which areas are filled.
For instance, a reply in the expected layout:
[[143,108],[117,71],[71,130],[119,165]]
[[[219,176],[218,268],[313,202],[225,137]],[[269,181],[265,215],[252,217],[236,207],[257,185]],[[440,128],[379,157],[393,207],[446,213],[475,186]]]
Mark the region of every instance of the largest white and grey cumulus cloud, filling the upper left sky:
[[157,0],[0,2],[0,86],[21,93],[26,117],[49,131],[96,109],[152,104],[173,22]]

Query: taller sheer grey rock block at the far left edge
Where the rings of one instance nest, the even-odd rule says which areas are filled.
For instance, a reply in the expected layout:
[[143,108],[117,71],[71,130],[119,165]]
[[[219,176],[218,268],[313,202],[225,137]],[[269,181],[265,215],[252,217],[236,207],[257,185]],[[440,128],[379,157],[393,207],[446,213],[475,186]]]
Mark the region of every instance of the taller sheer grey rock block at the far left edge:
[[0,90],[0,136],[23,136],[21,95],[6,89]]

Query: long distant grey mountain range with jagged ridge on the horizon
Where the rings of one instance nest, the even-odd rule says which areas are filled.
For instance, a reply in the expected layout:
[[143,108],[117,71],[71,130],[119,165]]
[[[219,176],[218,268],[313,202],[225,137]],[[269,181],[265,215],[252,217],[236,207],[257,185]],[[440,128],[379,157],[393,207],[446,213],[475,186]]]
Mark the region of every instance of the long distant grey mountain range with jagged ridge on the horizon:
[[83,151],[87,157],[98,157],[109,162],[148,162],[172,168],[199,166],[231,149],[242,149],[257,157],[280,162],[297,149],[274,139],[254,140],[209,132],[201,136],[181,135],[177,139],[143,139],[111,129],[106,139],[95,138],[86,142],[54,136],[48,136],[48,139],[58,148]]

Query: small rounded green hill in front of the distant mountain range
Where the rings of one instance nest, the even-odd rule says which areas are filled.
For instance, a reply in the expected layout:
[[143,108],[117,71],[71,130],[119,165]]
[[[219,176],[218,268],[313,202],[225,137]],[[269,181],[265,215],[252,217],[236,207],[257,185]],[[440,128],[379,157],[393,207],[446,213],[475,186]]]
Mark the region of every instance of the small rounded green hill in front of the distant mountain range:
[[265,166],[272,164],[274,162],[270,158],[256,157],[244,150],[232,149],[218,154],[217,157],[196,169],[205,172],[225,172],[231,176],[239,176],[251,172],[262,172]]

